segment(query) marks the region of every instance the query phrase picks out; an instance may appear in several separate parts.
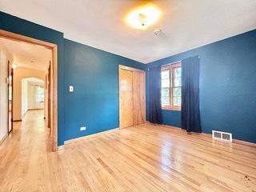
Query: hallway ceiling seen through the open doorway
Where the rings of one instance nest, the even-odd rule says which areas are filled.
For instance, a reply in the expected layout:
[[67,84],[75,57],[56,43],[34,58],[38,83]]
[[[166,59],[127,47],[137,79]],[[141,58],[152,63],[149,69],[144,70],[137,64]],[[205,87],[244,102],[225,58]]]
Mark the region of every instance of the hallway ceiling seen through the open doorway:
[[48,69],[52,53],[51,50],[27,42],[17,42],[7,38],[0,38],[0,43],[6,46],[13,55],[14,63],[18,67],[26,67],[34,70]]

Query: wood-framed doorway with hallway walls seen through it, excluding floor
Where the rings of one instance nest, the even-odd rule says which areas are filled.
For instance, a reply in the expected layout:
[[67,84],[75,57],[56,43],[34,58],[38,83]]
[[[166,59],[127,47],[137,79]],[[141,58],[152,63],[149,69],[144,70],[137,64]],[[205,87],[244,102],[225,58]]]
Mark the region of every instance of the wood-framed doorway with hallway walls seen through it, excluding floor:
[[33,114],[29,110],[43,110],[37,114],[45,119],[50,148],[57,150],[57,45],[0,30],[0,58],[1,90],[6,93],[0,98],[1,114],[6,114],[0,121],[0,141],[15,134],[15,123]]

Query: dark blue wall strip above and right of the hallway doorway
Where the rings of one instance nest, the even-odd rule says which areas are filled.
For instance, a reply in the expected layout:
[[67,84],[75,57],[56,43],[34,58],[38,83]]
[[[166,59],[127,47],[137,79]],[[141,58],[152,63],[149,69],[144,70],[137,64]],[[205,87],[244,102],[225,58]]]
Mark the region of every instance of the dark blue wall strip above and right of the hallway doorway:
[[63,34],[45,26],[5,14],[0,11],[0,30],[7,30],[15,34],[22,34],[30,38],[37,38],[45,42],[58,45],[58,145],[65,139],[64,131],[64,103],[63,103]]

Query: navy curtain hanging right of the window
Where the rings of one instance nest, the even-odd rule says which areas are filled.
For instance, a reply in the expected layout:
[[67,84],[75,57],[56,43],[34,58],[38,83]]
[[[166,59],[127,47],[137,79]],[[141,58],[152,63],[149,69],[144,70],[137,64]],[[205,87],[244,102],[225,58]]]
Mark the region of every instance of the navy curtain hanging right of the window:
[[182,60],[182,129],[201,132],[198,56]]

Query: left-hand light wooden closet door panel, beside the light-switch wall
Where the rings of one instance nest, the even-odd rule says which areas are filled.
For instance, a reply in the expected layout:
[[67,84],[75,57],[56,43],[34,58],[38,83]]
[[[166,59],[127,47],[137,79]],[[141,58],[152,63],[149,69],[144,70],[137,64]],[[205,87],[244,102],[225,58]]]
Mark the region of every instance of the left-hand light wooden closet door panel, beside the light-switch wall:
[[119,94],[120,128],[133,126],[133,71],[119,70]]

